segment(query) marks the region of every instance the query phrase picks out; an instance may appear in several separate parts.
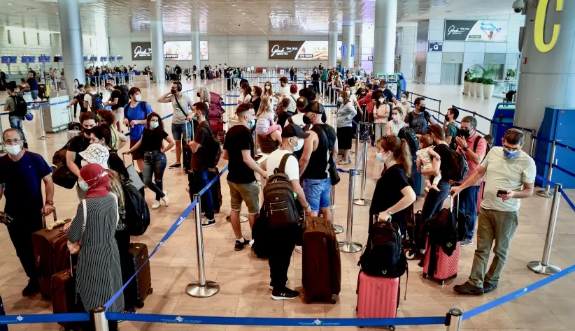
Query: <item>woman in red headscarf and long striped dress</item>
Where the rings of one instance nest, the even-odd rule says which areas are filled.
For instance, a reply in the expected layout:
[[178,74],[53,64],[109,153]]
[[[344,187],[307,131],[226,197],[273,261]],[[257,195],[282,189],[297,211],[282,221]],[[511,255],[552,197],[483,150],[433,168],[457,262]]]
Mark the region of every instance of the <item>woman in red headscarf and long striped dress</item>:
[[[107,152],[107,151],[106,151]],[[64,226],[70,242],[80,242],[76,270],[78,306],[87,312],[102,307],[122,288],[120,254],[115,241],[115,229],[120,220],[118,197],[110,192],[110,177],[99,164],[87,164],[80,169],[78,182],[86,192],[76,216]],[[107,311],[120,312],[124,296],[120,294]],[[92,330],[86,323],[83,330]],[[108,321],[108,329],[118,330],[118,321]]]

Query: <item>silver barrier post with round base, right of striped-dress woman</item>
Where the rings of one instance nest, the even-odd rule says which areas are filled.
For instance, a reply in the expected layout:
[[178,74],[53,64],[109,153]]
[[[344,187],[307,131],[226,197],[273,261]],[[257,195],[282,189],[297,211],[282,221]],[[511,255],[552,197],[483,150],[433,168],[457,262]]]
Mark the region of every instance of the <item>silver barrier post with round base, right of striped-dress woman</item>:
[[206,281],[204,269],[204,237],[201,229],[201,203],[199,194],[194,194],[197,205],[194,207],[196,219],[196,244],[198,257],[198,281],[192,281],[185,287],[185,293],[192,297],[211,297],[220,291],[220,285],[215,281]]

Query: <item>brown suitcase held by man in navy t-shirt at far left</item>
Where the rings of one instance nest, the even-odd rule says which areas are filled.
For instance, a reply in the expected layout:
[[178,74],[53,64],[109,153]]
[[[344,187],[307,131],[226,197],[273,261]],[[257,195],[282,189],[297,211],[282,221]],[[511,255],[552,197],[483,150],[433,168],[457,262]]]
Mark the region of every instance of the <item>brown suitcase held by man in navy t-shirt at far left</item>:
[[[52,275],[70,267],[70,251],[64,225],[47,230],[45,217],[42,221],[44,228],[32,233],[32,246],[34,246],[34,256],[36,256],[40,293],[49,299],[52,295]],[[54,212],[54,221],[56,221],[56,212]],[[65,222],[70,221],[66,219]]]

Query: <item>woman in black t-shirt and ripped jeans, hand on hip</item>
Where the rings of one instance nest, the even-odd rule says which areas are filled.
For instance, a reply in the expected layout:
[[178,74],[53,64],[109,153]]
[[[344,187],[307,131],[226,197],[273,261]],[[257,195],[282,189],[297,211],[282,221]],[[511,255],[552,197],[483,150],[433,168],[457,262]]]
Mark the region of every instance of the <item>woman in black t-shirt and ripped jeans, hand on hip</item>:
[[[168,145],[164,147],[164,140]],[[152,209],[158,209],[160,201],[169,205],[168,192],[164,189],[164,170],[166,170],[166,152],[176,145],[173,138],[164,130],[162,117],[151,112],[146,118],[146,126],[142,132],[142,138],[133,147],[128,149],[128,154],[141,149],[144,156],[143,182],[148,189],[156,193]],[[152,175],[154,182],[152,182]]]

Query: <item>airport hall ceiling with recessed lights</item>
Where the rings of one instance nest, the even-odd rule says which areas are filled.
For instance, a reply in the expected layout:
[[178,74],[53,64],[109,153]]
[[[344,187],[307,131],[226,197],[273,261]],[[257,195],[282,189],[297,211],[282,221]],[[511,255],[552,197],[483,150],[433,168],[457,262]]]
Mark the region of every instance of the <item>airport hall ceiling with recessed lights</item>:
[[[84,34],[96,29],[150,30],[150,0],[79,0]],[[397,0],[398,25],[434,17],[512,13],[513,0]],[[355,8],[358,28],[374,23],[374,0],[163,0],[164,34],[189,34],[192,18],[201,34],[327,34],[330,21]],[[104,25],[104,26],[103,26]],[[0,0],[0,27],[59,31],[57,0]],[[360,34],[360,29],[356,33]]]

